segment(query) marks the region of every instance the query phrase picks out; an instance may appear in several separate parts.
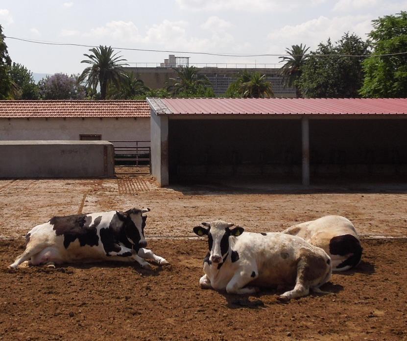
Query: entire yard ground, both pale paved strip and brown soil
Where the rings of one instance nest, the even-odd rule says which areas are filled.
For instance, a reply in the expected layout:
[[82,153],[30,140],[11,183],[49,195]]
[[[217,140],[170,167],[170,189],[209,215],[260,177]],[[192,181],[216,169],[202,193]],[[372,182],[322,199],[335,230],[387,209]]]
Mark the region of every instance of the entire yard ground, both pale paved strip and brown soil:
[[[406,200],[405,185],[0,180],[0,340],[407,340]],[[131,207],[151,209],[145,236],[170,266],[7,269],[34,225]],[[240,297],[199,289],[207,244],[192,227],[201,221],[263,232],[328,214],[351,219],[364,247],[356,271],[334,274],[322,288],[332,294],[281,304],[271,290]]]

